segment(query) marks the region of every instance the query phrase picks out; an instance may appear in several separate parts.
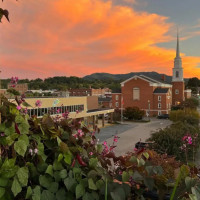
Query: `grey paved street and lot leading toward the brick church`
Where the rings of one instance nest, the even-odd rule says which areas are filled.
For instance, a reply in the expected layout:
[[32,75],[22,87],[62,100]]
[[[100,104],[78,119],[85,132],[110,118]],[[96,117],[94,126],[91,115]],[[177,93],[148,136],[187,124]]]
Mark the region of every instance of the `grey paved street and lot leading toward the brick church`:
[[125,122],[124,124],[113,125],[102,128],[100,133],[96,135],[100,142],[107,141],[112,144],[113,135],[118,135],[119,141],[115,152],[117,155],[123,155],[127,151],[132,151],[135,143],[140,139],[145,141],[152,132],[165,128],[171,124],[171,121],[164,119],[152,118],[151,122],[138,123],[138,122]]

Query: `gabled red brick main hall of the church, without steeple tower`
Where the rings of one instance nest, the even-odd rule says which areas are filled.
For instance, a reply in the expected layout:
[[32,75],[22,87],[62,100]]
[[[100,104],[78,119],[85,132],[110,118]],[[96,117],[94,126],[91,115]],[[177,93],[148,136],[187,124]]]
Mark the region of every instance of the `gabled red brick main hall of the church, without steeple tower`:
[[146,114],[169,113],[172,105],[172,85],[147,76],[134,76],[121,83],[123,107],[136,106]]

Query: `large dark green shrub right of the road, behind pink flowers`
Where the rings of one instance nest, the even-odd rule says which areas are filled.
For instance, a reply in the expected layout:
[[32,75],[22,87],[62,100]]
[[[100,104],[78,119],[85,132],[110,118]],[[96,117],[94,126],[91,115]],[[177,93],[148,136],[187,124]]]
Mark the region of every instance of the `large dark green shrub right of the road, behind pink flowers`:
[[[167,153],[168,155],[175,156],[177,160],[185,161],[185,153],[181,150],[183,145],[182,138],[185,135],[191,135],[192,138],[199,134],[199,128],[184,122],[176,122],[170,127],[161,129],[151,135],[148,141],[152,141],[152,148],[159,153]],[[196,138],[199,141],[199,135]],[[194,144],[194,143],[193,143]],[[196,150],[198,142],[193,146]],[[192,155],[193,149],[189,149],[189,154]]]

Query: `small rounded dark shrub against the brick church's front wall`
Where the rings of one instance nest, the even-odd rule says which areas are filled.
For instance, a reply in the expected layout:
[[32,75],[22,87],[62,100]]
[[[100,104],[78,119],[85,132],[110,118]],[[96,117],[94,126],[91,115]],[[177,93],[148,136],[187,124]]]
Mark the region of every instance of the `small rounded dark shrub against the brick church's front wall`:
[[140,110],[138,107],[127,107],[123,115],[129,120],[141,120],[144,116],[144,110]]

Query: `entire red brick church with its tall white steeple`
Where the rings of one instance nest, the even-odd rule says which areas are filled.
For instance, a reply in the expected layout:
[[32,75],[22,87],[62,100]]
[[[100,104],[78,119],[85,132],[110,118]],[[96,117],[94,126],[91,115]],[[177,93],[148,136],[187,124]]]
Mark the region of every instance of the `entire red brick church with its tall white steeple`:
[[[116,95],[120,99],[116,98]],[[162,80],[155,80],[144,75],[133,76],[121,83],[121,94],[112,95],[112,106],[120,109],[137,106],[147,115],[153,116],[168,114],[171,106],[178,105],[190,97],[191,90],[185,90],[177,35],[172,82],[166,83],[164,77]]]

